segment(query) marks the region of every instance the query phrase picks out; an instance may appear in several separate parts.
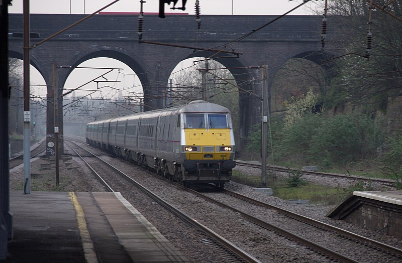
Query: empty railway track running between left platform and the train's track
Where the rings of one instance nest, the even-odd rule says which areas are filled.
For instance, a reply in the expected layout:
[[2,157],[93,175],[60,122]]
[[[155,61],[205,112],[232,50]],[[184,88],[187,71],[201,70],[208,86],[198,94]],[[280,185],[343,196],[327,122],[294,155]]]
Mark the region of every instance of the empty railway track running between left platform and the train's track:
[[[90,165],[90,162],[93,162],[93,159],[96,159],[96,163],[98,164],[99,162],[102,162],[104,166],[107,166],[108,169],[112,169],[115,173],[119,174],[122,178],[124,178],[127,182],[129,182],[130,185],[135,186],[136,188],[140,189],[141,192],[145,193],[147,196],[152,198],[155,202],[166,208],[168,211],[179,217],[181,220],[184,220],[186,224],[192,225],[193,228],[198,229],[197,231],[202,232],[204,235],[208,235],[208,237],[205,237],[205,240],[208,240],[208,242],[215,242],[216,247],[215,249],[220,250],[221,256],[225,257],[228,259],[228,257],[233,258],[233,262],[260,262],[258,259],[254,258],[252,255],[248,254],[235,244],[231,243],[230,241],[226,240],[222,236],[218,235],[216,232],[212,231],[208,227],[206,227],[203,224],[200,224],[196,220],[194,220],[191,216],[183,213],[180,211],[180,209],[177,209],[176,207],[172,206],[162,198],[160,198],[158,195],[156,195],[154,192],[148,190],[144,186],[142,186],[140,183],[132,179],[130,176],[126,175],[122,171],[120,171],[117,167],[112,166],[110,163],[104,161],[103,159],[97,157],[95,154],[89,152],[88,150],[84,149],[83,147],[79,146],[78,144],[72,142],[72,141],[64,141],[65,144],[72,149],[72,151],[79,157],[81,158],[82,161],[85,162],[85,164],[90,168],[90,170],[96,175],[97,179],[100,180],[105,187],[107,187],[108,191],[114,191],[112,187],[106,182],[106,179],[103,178],[103,176],[96,172],[95,170],[100,170],[102,171],[102,174],[105,173],[105,170],[100,168],[98,165],[97,167],[94,168],[94,166]],[[67,143],[68,142],[68,143]],[[74,144],[75,147],[79,147],[80,151],[85,151],[85,155],[79,155],[77,149],[74,149],[72,146],[69,145],[69,143]],[[86,159],[86,160],[85,160]],[[88,161],[88,162],[87,162]],[[211,241],[213,240],[213,241]],[[211,245],[211,244],[209,244]]]

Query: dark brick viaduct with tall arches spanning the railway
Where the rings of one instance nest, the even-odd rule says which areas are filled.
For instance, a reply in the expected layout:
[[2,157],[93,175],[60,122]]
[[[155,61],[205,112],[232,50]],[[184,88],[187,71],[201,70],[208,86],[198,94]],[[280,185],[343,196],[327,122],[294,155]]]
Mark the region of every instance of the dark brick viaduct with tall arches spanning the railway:
[[[51,36],[61,29],[84,18],[84,15],[31,14],[31,32],[39,39]],[[260,73],[248,66],[268,65],[268,89],[275,73],[288,59],[303,57],[314,62],[322,58],[320,16],[286,16],[247,38],[231,44],[247,33],[267,24],[276,16],[202,16],[201,29],[193,16],[175,15],[160,19],[155,15],[144,16],[143,40],[163,42],[204,49],[222,49],[242,53],[216,53],[206,50],[176,48],[138,42],[137,15],[95,15],[61,33],[55,38],[31,49],[31,64],[52,84],[53,62],[57,65],[78,66],[85,60],[109,57],[127,64],[139,77],[144,89],[144,104],[148,109],[161,108],[162,99],[155,99],[158,90],[166,87],[169,75],[179,61],[191,57],[211,57],[230,69],[240,92],[240,138],[252,125],[261,121],[261,84],[251,81]],[[9,56],[23,58],[22,38],[11,33],[23,32],[22,14],[9,15]],[[58,70],[59,89],[63,87],[72,69]],[[250,79],[244,84],[244,79]],[[247,92],[250,91],[250,92]],[[250,94],[251,93],[251,94]],[[59,94],[62,94],[59,90]],[[160,93],[159,93],[160,94]],[[53,101],[53,89],[48,88],[48,100]],[[48,107],[52,107],[49,104]],[[47,130],[54,126],[53,111],[48,111]],[[59,112],[62,120],[62,113]],[[60,121],[59,121],[60,123]],[[62,134],[62,127],[60,133]],[[51,133],[50,133],[51,134]],[[49,139],[48,139],[49,140]]]

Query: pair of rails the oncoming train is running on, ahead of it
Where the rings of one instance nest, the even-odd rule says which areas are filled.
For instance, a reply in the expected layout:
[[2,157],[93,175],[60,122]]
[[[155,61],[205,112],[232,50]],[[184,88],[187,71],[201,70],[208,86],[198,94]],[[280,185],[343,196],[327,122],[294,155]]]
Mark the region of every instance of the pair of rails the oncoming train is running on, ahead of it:
[[[170,181],[168,182],[171,184]],[[379,258],[387,258],[387,260],[383,262],[394,262],[394,261],[400,261],[402,259],[402,250],[398,248],[383,244],[381,242],[377,242],[375,240],[351,233],[349,231],[322,223],[320,221],[302,215],[292,213],[285,209],[281,209],[279,207],[275,207],[267,203],[260,202],[258,200],[249,198],[244,195],[240,195],[232,191],[224,190],[223,192],[217,192],[217,193],[212,192],[203,194],[182,187],[181,185],[176,186],[180,187],[185,191],[191,192],[193,195],[208,200],[208,202],[213,202],[219,205],[220,207],[230,209],[234,211],[236,214],[240,214],[243,218],[245,218],[245,220],[252,222],[253,224],[260,227],[261,229],[259,230],[259,232],[262,234],[264,234],[266,231],[278,233],[278,238],[292,240],[292,242],[295,242],[295,244],[302,244],[303,246],[309,247],[309,249],[311,249],[314,253],[323,254],[325,255],[325,257],[330,257],[334,261],[359,262],[359,255],[358,253],[355,252],[353,252],[352,254],[347,254],[347,252],[345,253],[342,250],[337,251],[336,249],[334,249],[334,245],[332,245],[331,247],[331,245],[322,244],[322,240],[320,241],[320,238],[318,239],[318,241],[314,240],[314,238],[317,238],[317,235],[326,236],[325,239],[327,243],[328,240],[330,240],[329,242],[330,244],[331,243],[336,244],[338,242],[341,244],[340,245],[341,247],[342,246],[344,247],[345,246],[344,244],[347,243],[347,246],[350,248],[347,249],[348,251],[360,251],[360,252],[363,251],[363,253],[365,254],[374,254],[374,255],[380,254]],[[231,196],[232,199],[234,197],[237,201],[234,200],[228,202],[221,201],[227,198],[225,196]],[[249,213],[247,211],[241,211],[235,208],[239,200],[242,200],[242,202],[247,202],[248,204],[250,204],[250,206],[251,205],[256,206],[257,208],[254,208],[254,210],[259,211],[264,210],[264,213],[272,213],[272,212],[266,212],[265,210],[275,210],[276,211],[275,213],[279,215],[275,215],[274,217],[279,216],[281,218],[279,221],[286,221],[288,223],[285,223],[285,226],[280,226],[279,224],[271,223],[272,222],[271,219],[260,219],[260,216],[258,215],[253,215],[252,213]],[[291,227],[289,227],[289,225],[291,225]],[[297,227],[294,227],[296,225]],[[296,228],[297,230],[295,230]],[[310,235],[306,234],[306,232],[309,234],[310,233],[318,233],[318,234],[314,234],[313,237],[307,237]],[[373,258],[375,258],[374,255]]]

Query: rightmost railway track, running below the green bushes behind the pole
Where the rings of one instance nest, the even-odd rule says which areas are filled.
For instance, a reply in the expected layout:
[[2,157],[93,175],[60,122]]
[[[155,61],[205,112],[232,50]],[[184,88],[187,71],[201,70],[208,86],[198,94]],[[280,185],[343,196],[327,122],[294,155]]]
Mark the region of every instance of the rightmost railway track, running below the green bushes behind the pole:
[[[254,164],[254,163],[249,163],[249,162],[244,162],[244,161],[236,161],[236,165],[261,169],[260,164]],[[273,173],[275,173],[275,172],[289,173],[289,172],[300,171],[297,169],[291,169],[291,168],[286,168],[286,167],[281,167],[281,166],[273,166],[273,165],[267,165],[267,169],[272,171]],[[307,170],[302,170],[302,171],[306,175],[313,175],[313,176],[320,176],[320,177],[345,178],[345,179],[360,180],[360,181],[371,181],[371,182],[377,182],[379,184],[386,185],[386,186],[393,186],[393,184],[396,182],[395,180],[391,180],[391,179],[368,178],[368,177],[364,177],[364,176],[357,176],[357,175],[350,175],[350,174],[322,173],[322,172],[307,171]]]

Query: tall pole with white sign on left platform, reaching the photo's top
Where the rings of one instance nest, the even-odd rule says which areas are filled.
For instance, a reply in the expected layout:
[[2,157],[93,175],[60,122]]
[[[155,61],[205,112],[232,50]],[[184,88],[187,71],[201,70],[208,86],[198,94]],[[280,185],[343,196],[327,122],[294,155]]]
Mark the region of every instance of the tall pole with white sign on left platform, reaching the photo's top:
[[31,112],[29,110],[29,0],[24,0],[24,194],[31,194],[31,140],[30,123]]

